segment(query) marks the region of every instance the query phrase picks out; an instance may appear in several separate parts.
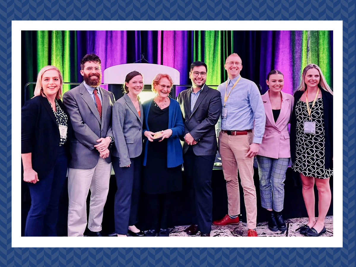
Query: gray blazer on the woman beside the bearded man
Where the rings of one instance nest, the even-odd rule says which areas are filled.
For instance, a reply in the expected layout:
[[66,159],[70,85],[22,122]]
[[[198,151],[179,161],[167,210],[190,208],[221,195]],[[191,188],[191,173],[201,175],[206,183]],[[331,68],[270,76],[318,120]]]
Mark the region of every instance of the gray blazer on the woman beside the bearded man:
[[142,152],[143,109],[140,102],[140,114],[130,97],[124,94],[112,107],[112,133],[115,146],[112,156],[119,158],[120,167],[131,164],[130,158],[136,158]]

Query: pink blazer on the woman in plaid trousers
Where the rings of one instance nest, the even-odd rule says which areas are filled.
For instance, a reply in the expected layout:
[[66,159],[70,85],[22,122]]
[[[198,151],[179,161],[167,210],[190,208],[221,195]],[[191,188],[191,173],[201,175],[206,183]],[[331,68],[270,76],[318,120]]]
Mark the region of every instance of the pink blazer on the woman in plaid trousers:
[[288,122],[292,114],[294,97],[281,91],[281,112],[277,121],[274,122],[268,92],[269,90],[262,95],[266,112],[266,127],[257,155],[269,158],[290,158]]

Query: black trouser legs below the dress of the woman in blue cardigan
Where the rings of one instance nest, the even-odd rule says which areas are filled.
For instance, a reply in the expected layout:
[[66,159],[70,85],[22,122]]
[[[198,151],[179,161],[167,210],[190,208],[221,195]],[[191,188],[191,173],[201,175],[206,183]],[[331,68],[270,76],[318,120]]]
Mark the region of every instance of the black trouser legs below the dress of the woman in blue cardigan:
[[147,215],[151,217],[149,230],[168,229],[167,217],[171,206],[171,193],[145,194]]

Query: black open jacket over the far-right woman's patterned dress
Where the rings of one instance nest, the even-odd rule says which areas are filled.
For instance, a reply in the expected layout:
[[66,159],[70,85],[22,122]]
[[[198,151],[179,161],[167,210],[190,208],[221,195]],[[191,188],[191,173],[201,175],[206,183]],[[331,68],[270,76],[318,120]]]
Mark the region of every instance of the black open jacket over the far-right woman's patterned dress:
[[[324,127],[325,127],[325,169],[333,168],[333,95],[328,91],[321,89],[321,96],[323,98],[324,108]],[[290,122],[290,157],[292,162],[295,162],[295,142],[297,118],[295,115],[295,106],[302,96],[304,91],[296,91],[294,93],[294,105],[292,111],[292,119]]]

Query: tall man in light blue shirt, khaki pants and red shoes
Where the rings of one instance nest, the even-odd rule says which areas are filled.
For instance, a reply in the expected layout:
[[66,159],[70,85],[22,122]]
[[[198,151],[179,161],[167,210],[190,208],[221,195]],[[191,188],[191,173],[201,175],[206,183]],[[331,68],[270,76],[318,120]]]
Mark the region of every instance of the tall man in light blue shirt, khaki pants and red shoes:
[[[224,65],[228,79],[219,85],[221,94],[221,131],[219,152],[226,180],[228,213],[214,225],[239,224],[240,191],[237,172],[244,189],[248,236],[257,236],[257,198],[253,183],[253,157],[257,155],[265,131],[266,115],[257,85],[242,78],[242,61],[231,54]],[[252,131],[253,130],[253,131]]]

